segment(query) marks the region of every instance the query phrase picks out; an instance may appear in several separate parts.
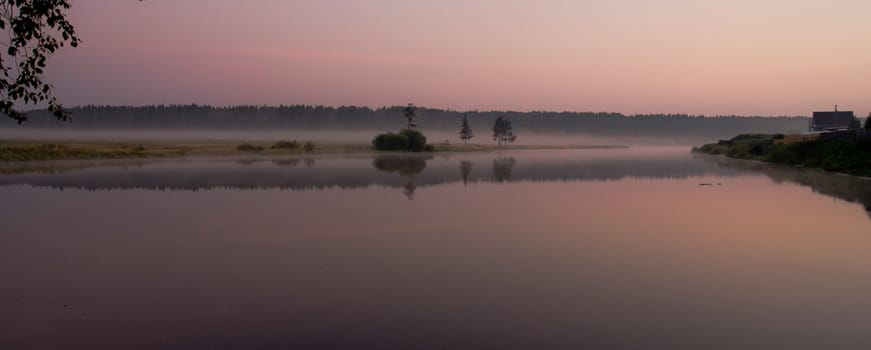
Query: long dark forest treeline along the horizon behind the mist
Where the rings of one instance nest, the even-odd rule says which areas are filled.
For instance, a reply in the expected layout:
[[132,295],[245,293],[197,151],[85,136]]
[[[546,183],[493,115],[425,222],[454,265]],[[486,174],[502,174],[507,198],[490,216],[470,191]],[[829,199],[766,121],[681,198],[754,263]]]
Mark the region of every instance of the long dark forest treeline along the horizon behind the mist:
[[[72,122],[58,122],[48,111],[29,113],[24,128],[72,129],[318,129],[393,130],[405,123],[404,106],[325,107],[309,105],[232,106],[155,105],[82,106],[72,108]],[[492,128],[499,116],[515,129],[542,133],[587,133],[617,136],[732,136],[744,132],[789,133],[807,128],[805,117],[704,117],[686,114],[623,115],[605,112],[511,112],[417,108],[421,130],[459,130],[468,114],[480,135]],[[18,127],[11,119],[0,126]]]

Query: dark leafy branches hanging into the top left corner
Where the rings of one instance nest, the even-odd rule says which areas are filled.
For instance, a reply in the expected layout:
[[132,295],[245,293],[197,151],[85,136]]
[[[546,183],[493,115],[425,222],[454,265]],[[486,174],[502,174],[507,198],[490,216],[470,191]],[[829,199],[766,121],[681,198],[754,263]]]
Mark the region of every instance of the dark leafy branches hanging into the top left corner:
[[66,111],[52,95],[52,85],[43,80],[46,60],[66,44],[79,45],[75,28],[67,20],[67,0],[2,0],[0,32],[9,38],[0,52],[0,112],[19,124],[27,115],[16,103],[48,103],[48,110],[60,120]]

